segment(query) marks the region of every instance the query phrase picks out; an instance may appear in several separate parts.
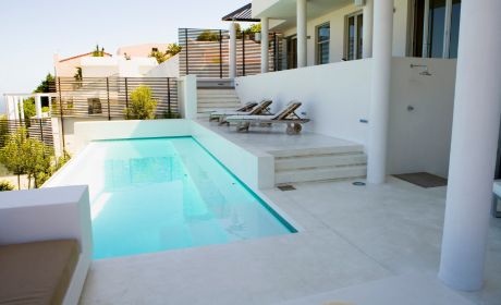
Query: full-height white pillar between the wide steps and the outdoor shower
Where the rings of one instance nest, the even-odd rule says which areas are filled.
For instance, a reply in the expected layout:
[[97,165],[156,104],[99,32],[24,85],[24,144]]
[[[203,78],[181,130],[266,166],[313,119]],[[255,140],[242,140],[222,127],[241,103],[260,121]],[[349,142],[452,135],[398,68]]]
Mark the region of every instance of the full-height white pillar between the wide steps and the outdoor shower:
[[384,183],[388,120],[390,112],[393,0],[379,0],[374,8],[372,89],[369,113],[367,182]]

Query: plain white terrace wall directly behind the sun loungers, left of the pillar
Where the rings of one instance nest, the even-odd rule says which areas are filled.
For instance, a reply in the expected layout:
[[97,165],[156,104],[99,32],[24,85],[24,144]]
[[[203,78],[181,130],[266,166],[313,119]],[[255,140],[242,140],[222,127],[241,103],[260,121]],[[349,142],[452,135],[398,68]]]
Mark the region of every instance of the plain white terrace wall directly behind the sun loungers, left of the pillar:
[[366,142],[370,98],[370,60],[338,62],[286,70],[235,81],[241,100],[273,100],[279,111],[291,100],[300,100],[298,112],[310,118],[306,131],[356,143]]

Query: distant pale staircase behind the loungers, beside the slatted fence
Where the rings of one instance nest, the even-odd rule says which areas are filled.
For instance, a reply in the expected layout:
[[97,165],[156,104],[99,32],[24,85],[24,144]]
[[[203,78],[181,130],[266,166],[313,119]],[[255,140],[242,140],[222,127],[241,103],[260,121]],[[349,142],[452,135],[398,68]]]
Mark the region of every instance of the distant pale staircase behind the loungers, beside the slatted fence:
[[234,88],[198,88],[197,93],[199,113],[215,109],[234,109],[241,105]]

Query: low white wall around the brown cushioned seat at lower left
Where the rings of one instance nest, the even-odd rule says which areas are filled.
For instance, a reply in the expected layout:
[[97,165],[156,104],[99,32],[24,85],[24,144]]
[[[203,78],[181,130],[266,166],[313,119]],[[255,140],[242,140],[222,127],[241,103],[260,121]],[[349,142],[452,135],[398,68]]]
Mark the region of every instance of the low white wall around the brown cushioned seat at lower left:
[[63,304],[77,304],[93,254],[88,187],[0,193],[0,244],[62,239],[75,239],[81,245],[63,301]]

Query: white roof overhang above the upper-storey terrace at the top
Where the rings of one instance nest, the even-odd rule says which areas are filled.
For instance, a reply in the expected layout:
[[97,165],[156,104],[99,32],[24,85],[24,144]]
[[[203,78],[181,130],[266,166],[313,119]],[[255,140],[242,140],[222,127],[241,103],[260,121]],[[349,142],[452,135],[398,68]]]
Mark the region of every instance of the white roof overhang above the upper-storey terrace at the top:
[[[313,20],[326,15],[353,3],[354,0],[309,0],[307,19]],[[270,29],[283,30],[296,26],[296,0],[254,0],[253,17],[268,17]]]

